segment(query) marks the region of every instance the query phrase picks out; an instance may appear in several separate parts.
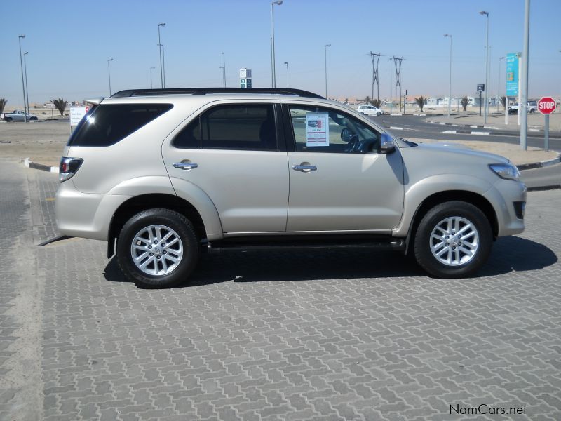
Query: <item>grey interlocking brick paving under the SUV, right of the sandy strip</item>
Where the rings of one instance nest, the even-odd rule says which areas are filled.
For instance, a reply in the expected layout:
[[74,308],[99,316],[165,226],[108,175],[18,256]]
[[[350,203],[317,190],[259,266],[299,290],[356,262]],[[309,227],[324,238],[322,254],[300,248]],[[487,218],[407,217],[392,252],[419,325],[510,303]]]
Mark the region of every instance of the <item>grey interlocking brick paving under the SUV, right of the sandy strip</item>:
[[[560,207],[531,193],[527,232],[464,280],[391,253],[224,253],[190,285],[143,290],[105,243],[40,248],[43,417],[559,420]],[[481,403],[525,415],[450,415]]]

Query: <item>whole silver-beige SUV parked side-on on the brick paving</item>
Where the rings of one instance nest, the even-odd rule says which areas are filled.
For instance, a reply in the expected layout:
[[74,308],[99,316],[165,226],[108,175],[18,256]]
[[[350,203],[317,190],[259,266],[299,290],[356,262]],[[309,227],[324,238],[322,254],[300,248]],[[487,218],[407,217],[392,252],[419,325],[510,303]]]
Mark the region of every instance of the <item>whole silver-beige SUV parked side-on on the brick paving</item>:
[[[128,279],[185,281],[201,250],[339,246],[414,255],[463,277],[524,229],[526,188],[501,156],[396,138],[295,89],[121,91],[69,138],[62,234],[108,241]],[[372,271],[376,268],[372,267]]]

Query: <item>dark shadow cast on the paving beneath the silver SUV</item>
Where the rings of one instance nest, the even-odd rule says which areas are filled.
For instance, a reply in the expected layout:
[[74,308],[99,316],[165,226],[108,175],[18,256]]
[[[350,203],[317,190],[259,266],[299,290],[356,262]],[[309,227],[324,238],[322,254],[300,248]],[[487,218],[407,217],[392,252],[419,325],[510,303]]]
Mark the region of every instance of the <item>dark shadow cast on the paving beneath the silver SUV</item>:
[[[487,264],[475,278],[526,272],[557,262],[550,248],[535,241],[508,236],[498,239]],[[128,282],[112,258],[103,272],[111,282]],[[229,250],[203,253],[189,281],[176,288],[222,282],[309,281],[426,276],[412,258],[391,251],[368,249]]]

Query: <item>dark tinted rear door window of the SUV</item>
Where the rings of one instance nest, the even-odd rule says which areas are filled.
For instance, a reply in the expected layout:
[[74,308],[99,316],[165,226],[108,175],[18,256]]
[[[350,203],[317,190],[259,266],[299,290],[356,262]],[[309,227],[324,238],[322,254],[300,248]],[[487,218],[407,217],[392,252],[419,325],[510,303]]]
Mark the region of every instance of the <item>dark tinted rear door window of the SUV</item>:
[[178,148],[278,150],[272,104],[219,105],[185,126]]

